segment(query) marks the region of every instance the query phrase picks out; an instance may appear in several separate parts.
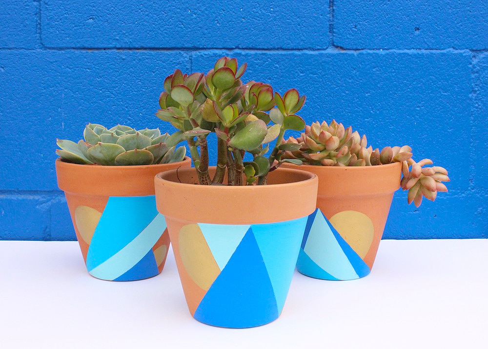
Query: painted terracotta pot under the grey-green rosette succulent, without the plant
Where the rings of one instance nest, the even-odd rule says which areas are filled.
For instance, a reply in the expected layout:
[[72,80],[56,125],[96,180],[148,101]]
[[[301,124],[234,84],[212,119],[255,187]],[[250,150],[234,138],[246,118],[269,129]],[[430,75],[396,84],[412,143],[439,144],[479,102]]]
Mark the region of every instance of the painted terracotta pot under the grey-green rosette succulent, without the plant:
[[80,165],[56,160],[88,272],[99,279],[133,281],[159,274],[169,248],[156,210],[154,176],[190,167],[191,160],[141,166]]

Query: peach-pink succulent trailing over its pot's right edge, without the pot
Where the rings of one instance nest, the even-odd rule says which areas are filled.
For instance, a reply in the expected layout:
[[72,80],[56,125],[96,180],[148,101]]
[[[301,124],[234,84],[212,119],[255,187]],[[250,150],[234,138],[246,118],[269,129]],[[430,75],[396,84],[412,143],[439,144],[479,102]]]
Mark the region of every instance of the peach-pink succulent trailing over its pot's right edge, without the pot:
[[448,182],[447,170],[431,165],[432,160],[412,159],[412,148],[385,147],[381,151],[367,146],[366,136],[362,137],[352,127],[344,127],[335,120],[327,125],[314,122],[305,126],[305,133],[298,138],[289,137],[286,144],[295,144],[300,149],[285,151],[283,158],[301,160],[302,163],[323,166],[376,166],[392,162],[402,163],[401,187],[408,190],[408,203],[419,207],[422,198],[434,201],[437,192],[447,192],[442,182]]

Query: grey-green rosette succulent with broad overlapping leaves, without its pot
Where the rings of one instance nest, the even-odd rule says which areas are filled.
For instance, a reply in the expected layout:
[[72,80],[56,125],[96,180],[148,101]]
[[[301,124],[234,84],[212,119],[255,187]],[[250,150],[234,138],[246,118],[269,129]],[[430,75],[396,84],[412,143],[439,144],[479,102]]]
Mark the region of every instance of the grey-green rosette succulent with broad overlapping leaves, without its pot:
[[75,143],[58,139],[61,149],[56,154],[63,161],[76,164],[151,165],[182,161],[185,147],[176,148],[177,136],[161,134],[159,129],[136,130],[125,125],[110,129],[99,124],[88,124],[84,139]]

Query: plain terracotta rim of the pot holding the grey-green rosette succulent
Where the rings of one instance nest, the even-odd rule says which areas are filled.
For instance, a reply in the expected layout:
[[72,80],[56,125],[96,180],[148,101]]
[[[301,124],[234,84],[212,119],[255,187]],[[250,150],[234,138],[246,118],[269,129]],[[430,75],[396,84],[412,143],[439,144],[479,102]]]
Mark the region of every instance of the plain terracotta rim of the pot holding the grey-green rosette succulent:
[[154,176],[160,172],[191,166],[181,162],[140,166],[80,165],[56,160],[58,186],[64,192],[102,196],[154,195]]

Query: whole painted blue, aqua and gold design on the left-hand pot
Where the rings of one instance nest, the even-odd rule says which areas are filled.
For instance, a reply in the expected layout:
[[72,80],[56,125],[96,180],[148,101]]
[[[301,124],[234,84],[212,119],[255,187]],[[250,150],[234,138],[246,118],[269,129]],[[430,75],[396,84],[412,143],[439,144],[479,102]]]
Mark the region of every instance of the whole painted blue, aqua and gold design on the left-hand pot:
[[75,209],[75,222],[88,246],[86,268],[99,279],[133,281],[161,272],[169,247],[164,216],[155,195],[111,196],[100,213]]

